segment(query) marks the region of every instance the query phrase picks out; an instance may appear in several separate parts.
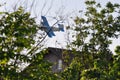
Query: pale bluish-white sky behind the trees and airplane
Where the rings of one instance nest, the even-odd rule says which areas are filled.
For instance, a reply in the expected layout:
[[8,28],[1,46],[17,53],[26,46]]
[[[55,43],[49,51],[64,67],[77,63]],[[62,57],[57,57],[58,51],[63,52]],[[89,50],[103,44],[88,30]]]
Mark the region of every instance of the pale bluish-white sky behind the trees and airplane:
[[[96,2],[100,2],[102,5],[105,5],[108,1],[120,3],[120,0],[96,0]],[[85,0],[0,0],[0,4],[4,5],[0,7],[0,11],[12,12],[15,7],[22,5],[26,8],[26,11],[31,11],[32,17],[37,17],[36,21],[38,23],[41,20],[41,15],[45,15],[50,25],[52,25],[55,22],[53,18],[56,16],[66,16],[66,19],[68,19],[68,16],[82,16],[78,12],[85,10],[84,2]],[[69,32],[72,34],[71,31]],[[46,38],[46,47],[64,48],[67,44],[66,42],[68,42],[68,31],[55,32],[55,34],[56,36],[53,38]],[[113,51],[118,44],[120,44],[120,41],[114,40],[110,49]]]

